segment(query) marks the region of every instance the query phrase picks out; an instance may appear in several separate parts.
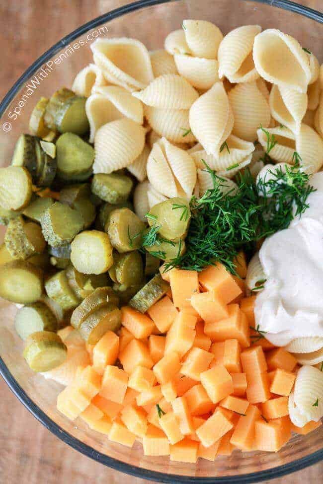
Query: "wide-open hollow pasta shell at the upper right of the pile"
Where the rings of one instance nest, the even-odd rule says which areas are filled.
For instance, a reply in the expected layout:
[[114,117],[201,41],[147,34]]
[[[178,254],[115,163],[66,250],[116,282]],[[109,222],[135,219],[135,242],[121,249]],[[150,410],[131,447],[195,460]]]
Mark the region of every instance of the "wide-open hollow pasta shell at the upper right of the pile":
[[274,84],[306,92],[312,74],[308,55],[299,42],[277,29],[254,39],[253,61],[259,74]]

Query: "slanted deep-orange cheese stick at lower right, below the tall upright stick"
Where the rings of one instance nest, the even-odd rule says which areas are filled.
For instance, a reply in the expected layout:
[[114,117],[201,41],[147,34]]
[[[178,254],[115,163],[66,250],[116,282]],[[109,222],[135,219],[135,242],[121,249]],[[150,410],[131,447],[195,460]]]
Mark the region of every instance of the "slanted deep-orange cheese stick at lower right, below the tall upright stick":
[[241,450],[252,450],[254,445],[254,424],[260,418],[260,411],[255,405],[249,405],[245,416],[238,420],[230,442]]

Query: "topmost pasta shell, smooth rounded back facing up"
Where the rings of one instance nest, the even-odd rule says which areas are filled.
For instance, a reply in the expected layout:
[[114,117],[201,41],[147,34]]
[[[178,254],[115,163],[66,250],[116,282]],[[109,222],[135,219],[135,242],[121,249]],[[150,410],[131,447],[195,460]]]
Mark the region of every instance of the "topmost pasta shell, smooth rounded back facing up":
[[184,20],[187,45],[195,57],[216,59],[223,34],[219,27],[206,20]]

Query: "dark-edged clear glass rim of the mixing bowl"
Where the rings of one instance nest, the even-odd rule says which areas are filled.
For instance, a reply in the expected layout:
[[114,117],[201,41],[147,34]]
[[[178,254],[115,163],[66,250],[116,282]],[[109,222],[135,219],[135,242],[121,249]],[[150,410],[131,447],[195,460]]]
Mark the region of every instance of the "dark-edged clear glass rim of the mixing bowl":
[[[127,5],[123,5],[119,8],[111,10],[110,12],[104,13],[89,22],[81,25],[70,34],[66,35],[48,49],[42,56],[40,56],[25,72],[18,78],[18,80],[13,84],[11,89],[7,92],[0,103],[0,117],[4,113],[5,109],[8,107],[11,100],[14,98],[16,93],[19,91],[20,87],[26,82],[30,76],[36,72],[43,64],[51,59],[57,52],[59,52],[63,47],[68,45],[70,42],[75,40],[77,37],[87,32],[88,30],[95,28],[103,23],[109,22],[112,19],[120,17],[130,12],[139,10],[147,6],[158,5],[160,3],[167,3],[176,0],[140,0]],[[240,0],[241,1],[241,0]],[[242,0],[245,1],[245,0]],[[300,5],[289,0],[249,0],[255,3],[264,3],[274,7],[282,8],[284,10],[289,10],[291,12],[297,13],[299,15],[306,16],[312,20],[315,20],[323,24],[323,13],[314,10],[313,8],[306,7],[305,5]],[[269,479],[275,479],[280,476],[284,476],[296,471],[300,471],[306,467],[312,466],[323,460],[323,448],[313,454],[309,454],[302,459],[299,459],[289,464],[283,466],[278,466],[273,469],[268,469],[266,471],[254,472],[249,474],[244,474],[241,476],[225,476],[225,477],[210,477],[210,478],[199,478],[199,477],[189,477],[181,476],[175,474],[164,474],[161,472],[150,471],[147,469],[141,469],[130,464],[126,464],[117,459],[113,459],[105,454],[97,452],[92,447],[84,444],[79,439],[76,439],[68,432],[64,431],[59,425],[57,425],[51,418],[49,418],[35,403],[28,397],[24,390],[17,383],[15,378],[9,372],[4,361],[0,357],[0,375],[12,391],[12,393],[18,398],[18,400],[26,407],[29,412],[34,415],[48,430],[50,430],[56,437],[59,437],[63,442],[69,444],[74,449],[78,450],[82,454],[91,459],[104,464],[105,466],[116,469],[117,471],[136,476],[142,479],[148,479],[163,483],[199,483],[199,484],[246,484],[246,483],[258,483],[261,481],[267,481]]]

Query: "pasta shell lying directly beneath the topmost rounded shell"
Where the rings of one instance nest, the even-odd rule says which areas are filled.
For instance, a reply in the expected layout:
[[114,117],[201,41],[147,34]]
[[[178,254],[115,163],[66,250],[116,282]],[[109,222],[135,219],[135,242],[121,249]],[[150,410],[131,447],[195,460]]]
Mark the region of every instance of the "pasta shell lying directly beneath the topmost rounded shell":
[[193,87],[210,89],[219,80],[218,61],[175,54],[177,70]]

